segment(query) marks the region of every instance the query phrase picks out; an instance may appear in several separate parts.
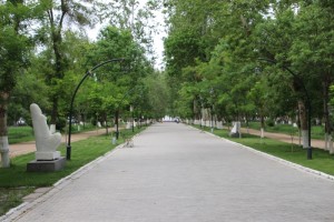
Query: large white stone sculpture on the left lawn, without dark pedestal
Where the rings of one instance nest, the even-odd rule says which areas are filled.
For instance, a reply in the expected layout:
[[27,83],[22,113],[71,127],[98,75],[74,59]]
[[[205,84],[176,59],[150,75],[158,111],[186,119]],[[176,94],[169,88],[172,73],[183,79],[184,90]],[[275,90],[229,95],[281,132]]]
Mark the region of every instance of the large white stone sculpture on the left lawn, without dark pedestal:
[[56,150],[60,145],[61,134],[50,132],[47,118],[37,104],[32,103],[30,105],[30,113],[36,139],[36,160],[59,159],[60,152]]

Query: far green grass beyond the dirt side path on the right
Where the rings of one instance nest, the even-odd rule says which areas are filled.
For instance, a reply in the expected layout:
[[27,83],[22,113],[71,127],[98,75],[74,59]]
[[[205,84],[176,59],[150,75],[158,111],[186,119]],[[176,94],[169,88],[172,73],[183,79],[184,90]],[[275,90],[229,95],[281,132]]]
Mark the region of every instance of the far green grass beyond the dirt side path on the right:
[[[259,130],[261,123],[259,122],[249,122],[248,123],[249,129]],[[246,128],[246,124],[243,123],[243,127]],[[274,127],[265,127],[265,131],[267,132],[275,132],[275,133],[284,133],[284,134],[293,134],[298,135],[298,129],[294,128],[291,124],[276,124]],[[322,140],[325,137],[325,130],[323,125],[313,125],[311,129],[312,132],[312,139],[318,139]]]

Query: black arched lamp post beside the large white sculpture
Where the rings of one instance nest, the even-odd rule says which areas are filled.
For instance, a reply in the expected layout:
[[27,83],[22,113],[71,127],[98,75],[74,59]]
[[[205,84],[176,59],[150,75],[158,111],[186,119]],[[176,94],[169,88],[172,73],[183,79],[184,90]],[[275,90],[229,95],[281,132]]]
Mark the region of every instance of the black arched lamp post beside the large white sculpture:
[[72,95],[72,99],[71,99],[71,103],[70,103],[70,110],[69,110],[69,127],[68,127],[68,143],[67,143],[67,148],[66,148],[66,159],[67,160],[70,160],[71,159],[71,131],[72,131],[72,112],[73,112],[73,102],[75,102],[75,98],[76,98],[76,94],[80,88],[80,85],[82,84],[82,82],[89,77],[91,75],[92,71],[95,71],[96,69],[105,65],[105,64],[108,64],[110,62],[117,62],[117,61],[124,61],[125,59],[124,58],[120,58],[120,59],[110,59],[110,60],[107,60],[105,62],[101,62],[99,64],[97,64],[96,67],[94,67],[91,70],[88,70],[86,72],[86,74],[84,75],[84,78],[81,79],[81,81],[79,82],[79,84],[77,85],[75,92],[73,92],[73,95]]

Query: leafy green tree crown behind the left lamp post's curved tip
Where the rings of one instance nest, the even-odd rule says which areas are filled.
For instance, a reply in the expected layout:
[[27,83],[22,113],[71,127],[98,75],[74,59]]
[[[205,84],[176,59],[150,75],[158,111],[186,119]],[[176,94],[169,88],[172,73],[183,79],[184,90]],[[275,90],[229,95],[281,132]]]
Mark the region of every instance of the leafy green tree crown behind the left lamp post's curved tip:
[[89,64],[98,64],[110,59],[124,60],[101,67],[95,73],[97,84],[102,88],[98,93],[94,93],[100,98],[95,102],[99,103],[99,114],[105,120],[108,113],[118,113],[135,103],[135,95],[139,93],[136,89],[144,85],[143,78],[151,72],[151,64],[145,58],[145,50],[135,41],[128,29],[106,27],[88,53]]

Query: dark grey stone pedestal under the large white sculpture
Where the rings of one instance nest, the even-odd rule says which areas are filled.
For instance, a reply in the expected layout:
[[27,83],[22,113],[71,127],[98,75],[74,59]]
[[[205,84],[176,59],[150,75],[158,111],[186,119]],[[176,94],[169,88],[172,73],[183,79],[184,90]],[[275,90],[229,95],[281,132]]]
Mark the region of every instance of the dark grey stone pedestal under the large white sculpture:
[[27,163],[28,172],[53,172],[63,169],[66,163],[65,157],[57,160],[33,160]]

